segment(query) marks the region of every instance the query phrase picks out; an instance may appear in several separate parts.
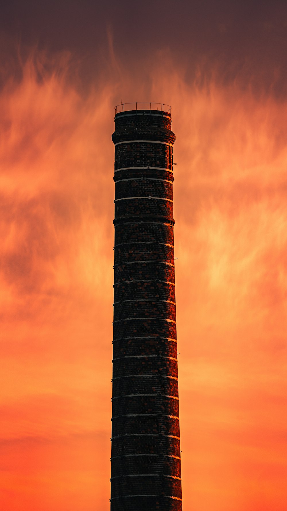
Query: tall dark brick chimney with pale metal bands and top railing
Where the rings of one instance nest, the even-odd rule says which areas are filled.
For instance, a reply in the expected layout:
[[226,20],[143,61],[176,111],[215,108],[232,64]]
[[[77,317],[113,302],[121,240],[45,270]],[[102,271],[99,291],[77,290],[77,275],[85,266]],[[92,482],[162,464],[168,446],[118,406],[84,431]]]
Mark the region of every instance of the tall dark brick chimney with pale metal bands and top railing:
[[[149,104],[150,105],[150,104]],[[111,511],[181,500],[170,108],[115,115]]]

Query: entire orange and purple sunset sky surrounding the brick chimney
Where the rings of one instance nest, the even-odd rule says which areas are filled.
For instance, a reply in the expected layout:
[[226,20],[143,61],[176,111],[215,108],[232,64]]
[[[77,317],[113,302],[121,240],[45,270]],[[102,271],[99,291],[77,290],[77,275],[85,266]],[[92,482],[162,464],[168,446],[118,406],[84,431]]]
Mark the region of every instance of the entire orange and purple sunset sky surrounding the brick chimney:
[[108,511],[114,106],[172,106],[183,511],[287,509],[287,3],[8,0],[0,511]]

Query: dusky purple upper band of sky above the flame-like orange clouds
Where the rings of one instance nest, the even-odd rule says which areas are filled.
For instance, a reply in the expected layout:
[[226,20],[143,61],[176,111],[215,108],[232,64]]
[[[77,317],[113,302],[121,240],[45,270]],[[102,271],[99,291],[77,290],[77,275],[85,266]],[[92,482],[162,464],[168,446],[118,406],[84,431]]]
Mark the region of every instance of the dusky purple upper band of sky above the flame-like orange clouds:
[[67,50],[81,60],[88,82],[105,65],[110,31],[123,69],[144,74],[143,62],[168,52],[184,66],[186,80],[200,64],[205,77],[216,69],[222,81],[236,78],[277,96],[285,94],[286,29],[287,4],[281,0],[9,0],[2,3],[0,18],[2,54],[9,52],[8,35],[21,51],[35,44]]

